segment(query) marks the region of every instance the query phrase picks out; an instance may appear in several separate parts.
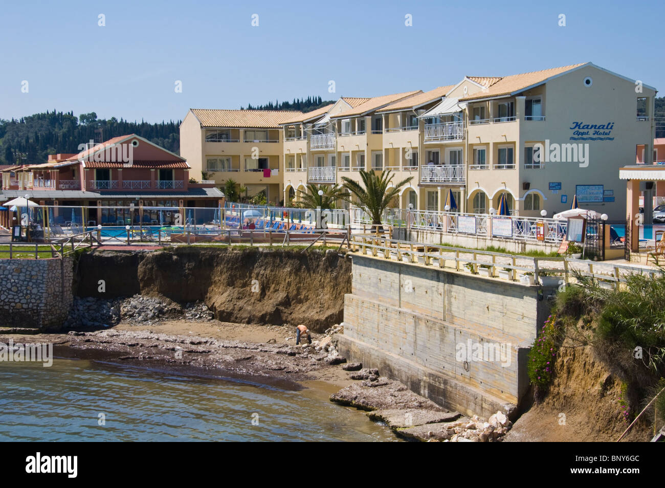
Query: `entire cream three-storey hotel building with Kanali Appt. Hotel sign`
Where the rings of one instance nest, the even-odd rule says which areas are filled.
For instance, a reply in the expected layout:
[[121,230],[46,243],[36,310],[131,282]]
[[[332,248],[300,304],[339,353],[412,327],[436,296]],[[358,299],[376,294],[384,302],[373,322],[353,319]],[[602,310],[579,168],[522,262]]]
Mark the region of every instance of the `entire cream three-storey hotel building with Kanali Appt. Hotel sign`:
[[[511,213],[539,217],[577,195],[581,207],[620,221],[618,168],[638,146],[652,154],[655,96],[591,62],[466,76],[428,92],[342,97],[307,114],[193,109],[181,152],[195,178],[198,168],[220,184],[231,176],[250,194],[266,189],[271,203],[291,201],[307,183],[340,184],[374,169],[394,171],[394,182],[414,177],[395,202],[402,208],[443,211],[452,190],[456,211],[489,213],[505,195]],[[277,178],[265,178],[265,168]]]

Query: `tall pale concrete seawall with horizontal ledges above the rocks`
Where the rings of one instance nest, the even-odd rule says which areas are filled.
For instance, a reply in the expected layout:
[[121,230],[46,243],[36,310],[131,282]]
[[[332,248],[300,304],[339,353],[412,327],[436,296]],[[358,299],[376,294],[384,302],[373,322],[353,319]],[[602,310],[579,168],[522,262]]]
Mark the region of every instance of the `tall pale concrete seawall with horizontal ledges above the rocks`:
[[353,255],[340,352],[467,415],[511,410],[549,313],[538,288]]

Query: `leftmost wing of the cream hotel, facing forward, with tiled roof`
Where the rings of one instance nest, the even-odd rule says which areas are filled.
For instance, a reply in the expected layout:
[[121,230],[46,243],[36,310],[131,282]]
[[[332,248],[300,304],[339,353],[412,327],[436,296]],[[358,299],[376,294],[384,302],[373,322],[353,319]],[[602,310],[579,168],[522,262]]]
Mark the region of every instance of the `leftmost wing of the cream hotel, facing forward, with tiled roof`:
[[267,202],[279,205],[284,189],[280,124],[300,115],[293,110],[192,108],[180,124],[180,155],[194,178],[219,187],[230,178],[247,187],[247,196],[265,191]]

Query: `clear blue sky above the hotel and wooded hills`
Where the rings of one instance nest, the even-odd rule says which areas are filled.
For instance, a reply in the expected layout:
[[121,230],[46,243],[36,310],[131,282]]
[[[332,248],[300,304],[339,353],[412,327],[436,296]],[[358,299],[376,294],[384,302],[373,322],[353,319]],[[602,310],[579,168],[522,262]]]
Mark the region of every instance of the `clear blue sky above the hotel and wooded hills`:
[[0,118],[55,108],[160,122],[190,107],[430,90],[585,61],[665,89],[662,0],[548,4],[5,1]]

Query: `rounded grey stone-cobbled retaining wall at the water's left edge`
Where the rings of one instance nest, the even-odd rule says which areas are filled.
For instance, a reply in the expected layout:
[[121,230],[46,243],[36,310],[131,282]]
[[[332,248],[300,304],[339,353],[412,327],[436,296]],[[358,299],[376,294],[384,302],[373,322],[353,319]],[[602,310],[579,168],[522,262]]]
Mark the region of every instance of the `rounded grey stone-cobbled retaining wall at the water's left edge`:
[[59,328],[72,305],[73,260],[0,259],[0,327]]

